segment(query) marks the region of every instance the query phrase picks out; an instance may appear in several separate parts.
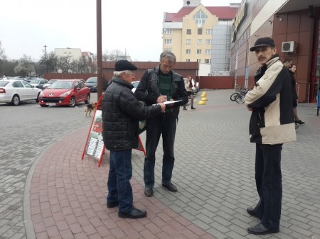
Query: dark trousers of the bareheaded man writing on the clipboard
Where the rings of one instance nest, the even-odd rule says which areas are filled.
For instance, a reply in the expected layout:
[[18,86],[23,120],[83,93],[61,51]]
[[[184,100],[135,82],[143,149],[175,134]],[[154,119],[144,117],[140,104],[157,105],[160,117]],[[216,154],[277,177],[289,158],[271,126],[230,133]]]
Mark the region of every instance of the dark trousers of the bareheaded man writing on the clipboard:
[[154,187],[156,148],[162,134],[162,184],[170,184],[174,169],[174,138],[176,137],[175,113],[161,113],[146,121],[146,157],[144,158],[145,187]]

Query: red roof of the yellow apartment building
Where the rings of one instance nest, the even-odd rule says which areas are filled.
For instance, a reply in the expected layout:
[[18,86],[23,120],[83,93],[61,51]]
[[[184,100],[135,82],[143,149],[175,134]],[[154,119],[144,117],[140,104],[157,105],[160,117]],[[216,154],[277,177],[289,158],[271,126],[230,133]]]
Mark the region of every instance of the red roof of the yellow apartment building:
[[[183,16],[190,14],[194,9],[196,7],[187,6],[180,9],[177,13],[166,13],[164,22],[181,22]],[[238,8],[230,6],[206,6],[206,9],[219,19],[233,19],[238,11]]]

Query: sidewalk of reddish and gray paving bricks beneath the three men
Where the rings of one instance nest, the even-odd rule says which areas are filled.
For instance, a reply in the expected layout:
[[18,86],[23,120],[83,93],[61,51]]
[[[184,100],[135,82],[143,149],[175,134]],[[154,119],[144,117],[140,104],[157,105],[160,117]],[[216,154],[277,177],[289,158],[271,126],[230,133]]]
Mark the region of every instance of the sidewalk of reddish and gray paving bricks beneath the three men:
[[[176,133],[173,182],[161,187],[161,141],[156,155],[154,196],[144,196],[142,152],[133,150],[134,206],[147,218],[122,219],[107,209],[105,155],[81,160],[89,128],[80,128],[48,147],[28,175],[23,202],[27,238],[320,238],[320,116],[299,105],[306,121],[297,142],[284,145],[284,195],[280,233],[255,236],[247,206],[257,202],[254,145],[248,140],[250,112],[231,102],[231,90],[206,91],[206,106],[181,111]],[[144,142],[144,134],[142,141]]]

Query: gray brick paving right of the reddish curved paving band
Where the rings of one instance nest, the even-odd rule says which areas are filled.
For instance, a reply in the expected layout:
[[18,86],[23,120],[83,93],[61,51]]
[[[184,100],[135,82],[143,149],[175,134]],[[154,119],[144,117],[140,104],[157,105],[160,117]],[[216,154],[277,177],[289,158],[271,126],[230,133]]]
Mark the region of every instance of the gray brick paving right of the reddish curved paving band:
[[[200,92],[200,94],[202,91]],[[283,209],[280,233],[252,236],[257,223],[246,213],[258,196],[255,189],[255,145],[249,142],[250,111],[230,101],[233,90],[208,90],[205,106],[181,111],[176,133],[176,163],[172,181],[178,187],[169,203],[161,189],[162,143],[156,152],[159,200],[216,238],[319,238],[320,116],[316,104],[299,104],[306,123],[297,129],[297,142],[282,152]],[[142,135],[144,138],[145,135]],[[134,158],[134,177],[143,184],[143,160]]]

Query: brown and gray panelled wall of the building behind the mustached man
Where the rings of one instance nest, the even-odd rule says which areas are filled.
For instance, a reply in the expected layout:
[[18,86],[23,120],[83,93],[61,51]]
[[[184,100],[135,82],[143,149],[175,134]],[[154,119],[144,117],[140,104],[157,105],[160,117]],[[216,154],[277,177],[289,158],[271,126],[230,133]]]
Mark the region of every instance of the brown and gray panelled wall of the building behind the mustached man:
[[[245,1],[245,0],[243,0]],[[289,0],[292,1],[292,0]],[[254,75],[261,66],[257,63],[255,52],[249,48],[261,37],[272,37],[280,60],[292,57],[297,65],[297,91],[299,102],[309,101],[309,87],[314,40],[315,19],[309,18],[308,11],[276,13],[287,0],[247,0],[247,16],[238,29],[235,42],[230,50],[230,69],[235,84],[240,87],[254,86]],[[280,20],[281,19],[281,20]],[[248,34],[249,33],[249,34]],[[297,52],[282,52],[282,42],[297,43]]]

